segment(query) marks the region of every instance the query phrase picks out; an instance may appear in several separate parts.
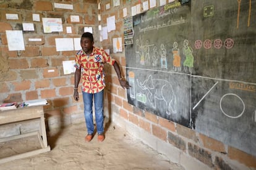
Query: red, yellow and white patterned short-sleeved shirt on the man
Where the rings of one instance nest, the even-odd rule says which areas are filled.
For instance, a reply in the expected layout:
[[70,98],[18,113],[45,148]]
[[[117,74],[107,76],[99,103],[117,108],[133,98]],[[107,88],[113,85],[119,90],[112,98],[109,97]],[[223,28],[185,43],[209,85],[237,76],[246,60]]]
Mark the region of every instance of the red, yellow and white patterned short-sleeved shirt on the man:
[[81,49],[75,55],[75,68],[81,68],[82,91],[94,94],[102,91],[105,84],[104,63],[114,65],[116,60],[112,59],[103,49],[93,47],[93,52],[87,55]]

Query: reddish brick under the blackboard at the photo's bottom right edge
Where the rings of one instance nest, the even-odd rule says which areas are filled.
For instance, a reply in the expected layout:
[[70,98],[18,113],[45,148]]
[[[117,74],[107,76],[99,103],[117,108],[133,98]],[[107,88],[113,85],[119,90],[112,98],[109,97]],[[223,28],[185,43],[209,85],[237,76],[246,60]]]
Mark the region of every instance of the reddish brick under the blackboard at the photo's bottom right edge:
[[237,148],[228,147],[228,156],[232,160],[237,160],[250,168],[256,168],[256,157],[242,152]]

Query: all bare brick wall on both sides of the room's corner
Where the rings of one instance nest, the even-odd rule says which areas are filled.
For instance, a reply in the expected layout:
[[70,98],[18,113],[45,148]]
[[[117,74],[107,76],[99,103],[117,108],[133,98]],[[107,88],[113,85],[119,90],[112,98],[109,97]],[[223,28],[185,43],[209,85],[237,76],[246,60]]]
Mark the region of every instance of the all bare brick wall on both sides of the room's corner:
[[[110,49],[111,56],[126,75],[124,52],[113,54],[112,39],[123,37],[122,9],[130,8],[142,1],[121,0],[121,5],[113,7],[113,1],[101,1],[101,10],[95,1],[62,1],[73,4],[74,10],[54,9],[54,1],[19,2],[2,1],[0,3],[0,101],[23,101],[47,99],[45,108],[48,126],[62,126],[78,123],[83,119],[82,95],[80,101],[73,99],[74,75],[64,75],[63,60],[73,60],[75,51],[56,52],[55,38],[79,38],[84,26],[93,26],[95,45]],[[156,0],[157,6],[159,1]],[[111,9],[106,10],[110,3]],[[19,10],[17,10],[19,9]],[[19,20],[6,20],[5,14],[18,14]],[[64,31],[43,33],[41,22],[33,22],[32,14],[41,17],[62,18]],[[101,14],[98,22],[96,14]],[[71,23],[70,15],[79,15],[80,23]],[[108,34],[108,39],[99,42],[98,25],[106,26],[106,18],[116,16],[116,30]],[[25,51],[20,54],[8,51],[6,30],[22,30],[22,22],[33,22],[34,32],[23,31]],[[66,33],[66,26],[72,27],[72,34]],[[41,42],[28,42],[28,38],[41,38]],[[124,48],[123,48],[124,49]],[[48,72],[48,70],[54,70]],[[105,114],[119,126],[140,138],[145,144],[167,155],[171,161],[181,163],[186,169],[255,169],[256,158],[252,155],[224,145],[218,140],[181,126],[167,119],[135,108],[127,102],[126,90],[119,86],[113,67],[106,65]],[[6,127],[4,127],[7,129]],[[1,131],[1,129],[0,129]],[[6,131],[6,130],[2,130]],[[19,132],[17,132],[19,133]]]

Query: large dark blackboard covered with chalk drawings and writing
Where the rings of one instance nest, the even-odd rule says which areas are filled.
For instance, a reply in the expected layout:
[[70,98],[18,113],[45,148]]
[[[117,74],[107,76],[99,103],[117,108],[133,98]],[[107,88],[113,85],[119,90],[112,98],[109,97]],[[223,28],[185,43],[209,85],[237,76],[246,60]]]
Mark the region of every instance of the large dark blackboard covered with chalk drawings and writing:
[[128,102],[256,156],[256,1],[175,1],[132,17]]

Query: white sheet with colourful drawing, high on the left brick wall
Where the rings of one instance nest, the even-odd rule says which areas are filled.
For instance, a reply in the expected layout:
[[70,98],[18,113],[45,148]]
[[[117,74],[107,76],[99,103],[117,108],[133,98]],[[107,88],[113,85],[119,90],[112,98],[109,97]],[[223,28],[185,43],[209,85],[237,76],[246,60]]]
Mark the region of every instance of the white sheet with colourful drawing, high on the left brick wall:
[[63,31],[61,18],[42,18],[42,20],[45,33]]

